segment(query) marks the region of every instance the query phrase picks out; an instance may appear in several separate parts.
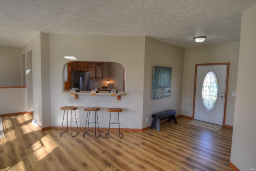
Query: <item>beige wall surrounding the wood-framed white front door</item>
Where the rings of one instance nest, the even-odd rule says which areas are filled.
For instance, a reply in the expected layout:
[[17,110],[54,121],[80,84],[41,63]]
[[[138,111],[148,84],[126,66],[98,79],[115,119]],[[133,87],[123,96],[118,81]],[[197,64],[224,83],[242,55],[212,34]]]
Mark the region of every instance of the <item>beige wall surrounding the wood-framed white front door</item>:
[[185,49],[181,114],[192,117],[196,64],[230,62],[226,125],[233,125],[238,71],[239,42]]

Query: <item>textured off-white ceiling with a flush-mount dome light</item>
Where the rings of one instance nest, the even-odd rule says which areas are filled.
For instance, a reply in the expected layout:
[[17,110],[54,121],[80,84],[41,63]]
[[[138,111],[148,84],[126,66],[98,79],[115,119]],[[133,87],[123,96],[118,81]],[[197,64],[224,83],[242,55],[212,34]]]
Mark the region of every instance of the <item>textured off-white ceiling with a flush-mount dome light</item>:
[[[39,32],[149,36],[190,48],[240,40],[241,12],[256,0],[0,0],[0,46]],[[207,36],[198,44],[193,38]]]

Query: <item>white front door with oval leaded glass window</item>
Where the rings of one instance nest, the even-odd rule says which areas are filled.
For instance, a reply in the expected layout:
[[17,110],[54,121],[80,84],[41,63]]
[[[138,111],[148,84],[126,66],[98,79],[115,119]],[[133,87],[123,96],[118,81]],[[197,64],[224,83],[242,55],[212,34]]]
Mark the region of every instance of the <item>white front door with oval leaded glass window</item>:
[[198,65],[194,119],[223,125],[227,65]]

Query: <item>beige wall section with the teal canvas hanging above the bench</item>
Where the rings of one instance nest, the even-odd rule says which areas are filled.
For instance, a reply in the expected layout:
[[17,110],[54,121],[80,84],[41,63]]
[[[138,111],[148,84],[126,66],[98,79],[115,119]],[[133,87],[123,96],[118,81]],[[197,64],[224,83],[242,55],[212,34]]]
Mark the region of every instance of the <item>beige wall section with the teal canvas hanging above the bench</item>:
[[[148,127],[152,123],[153,113],[174,109],[177,112],[176,115],[180,115],[184,48],[149,37],[146,37],[145,46],[144,85],[139,91],[143,91],[142,123],[143,127]],[[153,66],[172,68],[170,97],[152,99]],[[147,123],[146,118],[148,118]]]

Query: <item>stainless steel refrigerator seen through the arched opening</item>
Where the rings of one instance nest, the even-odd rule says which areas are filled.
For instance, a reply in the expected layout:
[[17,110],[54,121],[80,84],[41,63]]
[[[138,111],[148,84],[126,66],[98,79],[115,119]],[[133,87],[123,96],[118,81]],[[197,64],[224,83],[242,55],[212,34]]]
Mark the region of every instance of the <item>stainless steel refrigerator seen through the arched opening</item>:
[[71,88],[90,91],[90,72],[71,72]]

